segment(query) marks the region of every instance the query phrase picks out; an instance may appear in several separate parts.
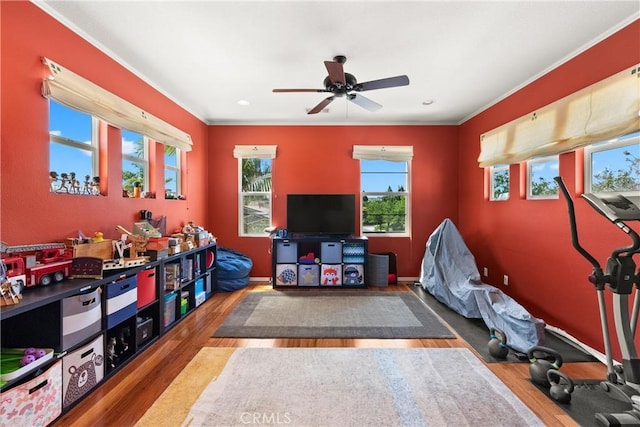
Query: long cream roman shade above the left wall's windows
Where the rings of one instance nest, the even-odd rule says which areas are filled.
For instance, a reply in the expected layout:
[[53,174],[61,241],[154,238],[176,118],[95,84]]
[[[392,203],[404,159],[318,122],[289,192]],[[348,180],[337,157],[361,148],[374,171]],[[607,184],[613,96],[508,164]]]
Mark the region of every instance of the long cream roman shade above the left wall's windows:
[[86,80],[60,64],[42,58],[49,75],[42,82],[42,95],[67,107],[91,114],[117,126],[149,138],[191,151],[191,136],[128,101]]

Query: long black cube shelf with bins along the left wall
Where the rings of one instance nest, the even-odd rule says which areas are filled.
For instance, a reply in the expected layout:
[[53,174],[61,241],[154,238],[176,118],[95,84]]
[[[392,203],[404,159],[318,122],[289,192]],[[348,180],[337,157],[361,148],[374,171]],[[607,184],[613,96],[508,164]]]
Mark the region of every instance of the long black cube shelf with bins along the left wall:
[[3,347],[54,352],[36,369],[0,383],[0,425],[15,425],[10,414],[36,402],[33,422],[21,417],[20,424],[55,421],[202,305],[216,291],[216,250],[211,242],[140,267],[106,270],[102,279],[32,287],[19,304],[0,307]]

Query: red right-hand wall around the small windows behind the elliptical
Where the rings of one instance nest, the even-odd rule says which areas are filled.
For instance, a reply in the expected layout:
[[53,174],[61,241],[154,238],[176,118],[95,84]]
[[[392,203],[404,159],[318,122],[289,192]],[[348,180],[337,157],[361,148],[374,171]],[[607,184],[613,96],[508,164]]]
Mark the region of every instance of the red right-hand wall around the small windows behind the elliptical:
[[[484,171],[477,163],[479,141],[490,129],[638,62],[640,23],[635,21],[459,127],[458,225],[479,268],[489,269],[485,281],[499,286],[548,324],[601,351],[596,293],[587,281],[591,266],[571,246],[564,200],[528,201],[520,197],[520,165],[512,165],[510,199],[489,202],[483,191]],[[560,156],[560,174],[574,198],[578,197],[575,168],[574,153]],[[583,200],[576,200],[576,215],[583,245],[601,263],[614,246],[627,244],[624,234]],[[503,274],[509,275],[508,287],[502,285]]]

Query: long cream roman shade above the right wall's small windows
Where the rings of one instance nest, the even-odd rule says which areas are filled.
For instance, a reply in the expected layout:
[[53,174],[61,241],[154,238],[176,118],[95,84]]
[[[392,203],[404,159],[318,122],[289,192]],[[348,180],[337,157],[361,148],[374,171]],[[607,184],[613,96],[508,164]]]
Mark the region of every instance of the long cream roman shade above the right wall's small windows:
[[640,130],[640,64],[480,136],[480,167],[575,150]]

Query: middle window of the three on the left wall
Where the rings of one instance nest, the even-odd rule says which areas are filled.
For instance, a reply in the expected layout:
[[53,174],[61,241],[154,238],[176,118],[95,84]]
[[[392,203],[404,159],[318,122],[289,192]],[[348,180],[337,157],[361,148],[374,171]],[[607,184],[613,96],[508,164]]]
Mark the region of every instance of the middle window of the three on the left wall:
[[122,195],[142,197],[148,191],[149,150],[147,137],[122,129]]

